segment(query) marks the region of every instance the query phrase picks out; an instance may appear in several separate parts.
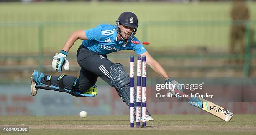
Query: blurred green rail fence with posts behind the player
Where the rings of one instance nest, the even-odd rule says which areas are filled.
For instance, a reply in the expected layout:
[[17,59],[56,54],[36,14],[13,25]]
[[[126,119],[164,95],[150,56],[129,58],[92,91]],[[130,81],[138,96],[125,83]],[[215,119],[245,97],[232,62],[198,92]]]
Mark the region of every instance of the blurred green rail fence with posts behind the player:
[[[18,54],[0,54],[0,58],[24,58],[24,57],[36,57],[39,60],[38,66],[39,70],[43,70],[43,60],[46,55],[44,55],[44,28],[46,27],[54,27],[54,26],[74,26],[74,25],[86,25],[86,26],[93,26],[95,24],[100,24],[101,22],[17,22],[17,23],[10,23],[10,22],[2,22],[0,23],[0,28],[5,27],[37,27],[38,28],[38,52],[35,52],[36,54],[29,54],[29,55],[18,55]],[[110,22],[105,22],[110,23]],[[153,26],[228,26],[232,22],[227,20],[220,20],[220,21],[159,21],[159,22],[142,22],[140,23],[141,26],[141,32],[142,32],[142,41],[148,40],[148,35],[150,34],[148,32],[148,29]],[[249,38],[250,38],[250,31],[248,30],[249,27],[253,25],[256,25],[256,20],[251,20],[246,23],[246,53],[244,55],[244,65],[243,65],[243,74],[244,77],[249,76],[249,70],[250,70],[250,60],[251,58],[255,58],[256,54],[251,54],[250,50],[250,44],[249,44]],[[238,59],[243,57],[242,55],[238,54],[175,54],[175,55],[159,55],[156,57],[168,57],[168,58],[179,58],[179,59],[189,59],[189,58],[210,58],[210,59],[218,59],[218,58],[234,58]],[[214,68],[214,67],[213,67]]]

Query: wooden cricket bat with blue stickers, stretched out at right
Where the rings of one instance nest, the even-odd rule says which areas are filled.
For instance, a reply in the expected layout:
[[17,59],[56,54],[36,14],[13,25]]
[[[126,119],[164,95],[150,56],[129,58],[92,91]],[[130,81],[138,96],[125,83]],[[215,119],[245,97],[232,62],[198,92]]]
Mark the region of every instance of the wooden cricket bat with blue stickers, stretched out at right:
[[[179,93],[180,95],[187,95],[179,90],[175,90],[174,92]],[[210,114],[220,118],[224,121],[230,121],[233,117],[233,113],[230,111],[224,109],[223,107],[220,107],[219,105],[216,105],[210,101],[207,101],[200,97],[186,97],[188,99],[188,103],[190,105],[193,105],[197,108],[200,108],[202,110],[205,110],[206,112],[209,112]]]

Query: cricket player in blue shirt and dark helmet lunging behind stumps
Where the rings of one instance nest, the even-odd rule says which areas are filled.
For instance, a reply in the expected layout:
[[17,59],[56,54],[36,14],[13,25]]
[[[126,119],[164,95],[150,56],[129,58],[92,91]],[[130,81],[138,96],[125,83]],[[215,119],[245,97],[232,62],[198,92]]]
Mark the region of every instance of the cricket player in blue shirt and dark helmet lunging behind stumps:
[[[121,50],[133,50],[137,55],[146,56],[147,65],[163,77],[167,83],[177,83],[168,77],[163,67],[151,57],[142,44],[131,43],[131,41],[140,42],[134,36],[137,29],[137,16],[132,12],[124,12],[116,20],[116,25],[102,24],[92,29],[72,32],[60,53],[54,55],[52,68],[59,73],[61,73],[63,66],[65,70],[69,69],[67,54],[74,42],[80,39],[83,40],[82,45],[77,50],[77,62],[81,67],[80,76],[78,78],[69,75],[52,76],[34,70],[31,94],[35,96],[38,89],[45,89],[67,92],[77,97],[94,97],[97,94],[95,83],[100,77],[110,86],[115,87],[123,102],[130,107],[129,75],[123,65],[113,63],[107,58],[107,54]],[[174,91],[170,92],[173,93]],[[134,108],[136,111],[136,104]],[[146,120],[154,120],[148,111]]]

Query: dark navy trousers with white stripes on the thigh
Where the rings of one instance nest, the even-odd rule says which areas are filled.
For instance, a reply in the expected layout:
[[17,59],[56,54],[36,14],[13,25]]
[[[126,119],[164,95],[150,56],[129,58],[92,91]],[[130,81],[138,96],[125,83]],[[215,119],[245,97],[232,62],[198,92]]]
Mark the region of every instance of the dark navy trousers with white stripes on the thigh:
[[84,92],[95,85],[98,77],[113,86],[109,78],[109,70],[114,63],[108,60],[106,55],[92,52],[81,45],[77,50],[77,62],[81,66],[77,80],[79,92]]

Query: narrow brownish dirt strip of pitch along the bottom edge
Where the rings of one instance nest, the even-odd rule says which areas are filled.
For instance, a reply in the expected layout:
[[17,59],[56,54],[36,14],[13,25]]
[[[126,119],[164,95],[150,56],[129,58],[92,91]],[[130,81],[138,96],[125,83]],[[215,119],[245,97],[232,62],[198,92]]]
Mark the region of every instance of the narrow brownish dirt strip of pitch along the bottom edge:
[[[131,130],[127,125],[0,125],[0,126],[29,126],[29,129],[64,129],[64,130]],[[182,131],[239,131],[239,132],[256,132],[256,126],[236,126],[236,125],[173,125],[158,126],[150,125],[146,128],[134,128],[134,130],[182,130]]]

